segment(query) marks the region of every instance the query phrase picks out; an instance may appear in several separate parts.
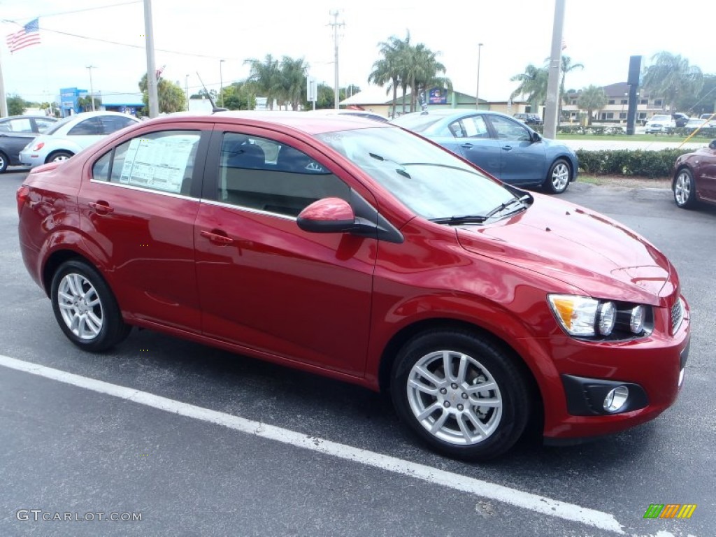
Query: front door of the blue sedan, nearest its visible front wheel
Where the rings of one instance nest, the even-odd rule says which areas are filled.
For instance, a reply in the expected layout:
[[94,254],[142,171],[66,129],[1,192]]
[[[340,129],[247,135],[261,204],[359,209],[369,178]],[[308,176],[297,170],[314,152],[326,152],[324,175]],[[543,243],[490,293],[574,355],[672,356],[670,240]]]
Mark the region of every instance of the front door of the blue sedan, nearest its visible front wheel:
[[486,117],[500,147],[500,179],[513,185],[538,185],[546,178],[546,150],[532,131],[511,117]]

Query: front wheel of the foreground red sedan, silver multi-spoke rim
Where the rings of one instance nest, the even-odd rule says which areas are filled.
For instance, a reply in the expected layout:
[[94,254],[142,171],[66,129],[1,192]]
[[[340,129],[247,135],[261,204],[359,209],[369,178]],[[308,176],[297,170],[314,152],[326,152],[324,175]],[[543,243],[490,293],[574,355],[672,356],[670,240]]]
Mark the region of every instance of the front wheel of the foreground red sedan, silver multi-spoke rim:
[[[442,366],[445,357],[450,375]],[[393,405],[402,422],[438,453],[472,461],[495,458],[515,444],[530,415],[529,388],[516,359],[490,337],[463,330],[424,332],[397,354]],[[477,390],[483,384],[490,386]]]

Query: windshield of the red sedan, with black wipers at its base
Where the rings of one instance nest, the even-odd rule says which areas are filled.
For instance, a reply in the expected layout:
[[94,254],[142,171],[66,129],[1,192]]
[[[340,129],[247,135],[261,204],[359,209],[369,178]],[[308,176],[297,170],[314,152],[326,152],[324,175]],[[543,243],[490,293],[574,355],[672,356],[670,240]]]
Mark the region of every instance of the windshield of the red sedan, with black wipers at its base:
[[317,135],[425,218],[485,215],[516,198],[453,153],[398,128]]

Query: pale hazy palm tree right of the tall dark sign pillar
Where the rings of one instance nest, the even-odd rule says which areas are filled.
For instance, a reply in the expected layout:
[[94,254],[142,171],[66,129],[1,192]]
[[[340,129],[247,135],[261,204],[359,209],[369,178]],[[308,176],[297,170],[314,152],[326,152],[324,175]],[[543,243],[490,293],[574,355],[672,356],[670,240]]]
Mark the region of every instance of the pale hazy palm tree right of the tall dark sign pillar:
[[690,65],[689,60],[671,52],[659,52],[644,73],[642,87],[652,97],[663,96],[674,112],[679,98],[698,95],[704,85],[701,69]]

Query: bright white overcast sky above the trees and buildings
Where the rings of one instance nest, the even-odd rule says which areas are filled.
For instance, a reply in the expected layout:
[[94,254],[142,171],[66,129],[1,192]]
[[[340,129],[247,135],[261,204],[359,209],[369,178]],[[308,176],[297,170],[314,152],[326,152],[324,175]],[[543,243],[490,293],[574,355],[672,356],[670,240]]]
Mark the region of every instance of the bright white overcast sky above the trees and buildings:
[[[152,0],[155,61],[165,66],[163,77],[183,89],[188,85],[190,93],[200,89],[199,76],[217,90],[221,82],[246,79],[246,59],[266,54],[304,58],[312,77],[333,86],[330,23],[337,21],[342,87],[367,88],[379,43],[410,32],[412,43],[439,53],[445,76],[469,95],[477,89],[479,48],[480,99],[506,101],[518,86],[511,77],[528,64],[545,64],[554,9],[555,0]],[[56,100],[61,87],[89,90],[90,73],[96,94],[139,91],[137,82],[147,69],[142,1],[0,0],[3,36],[35,17],[41,44],[10,54],[5,39],[0,42],[7,95]],[[642,55],[643,67],[662,51],[716,74],[710,31],[700,32],[698,24],[713,19],[712,0],[566,0],[563,54],[584,65],[567,75],[566,87],[626,82],[630,56]],[[676,21],[684,22],[683,30]]]

